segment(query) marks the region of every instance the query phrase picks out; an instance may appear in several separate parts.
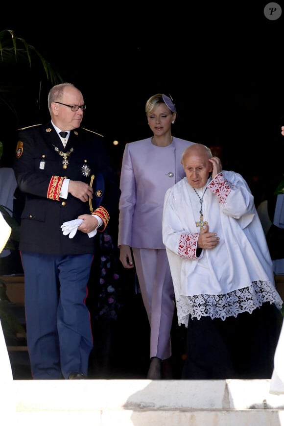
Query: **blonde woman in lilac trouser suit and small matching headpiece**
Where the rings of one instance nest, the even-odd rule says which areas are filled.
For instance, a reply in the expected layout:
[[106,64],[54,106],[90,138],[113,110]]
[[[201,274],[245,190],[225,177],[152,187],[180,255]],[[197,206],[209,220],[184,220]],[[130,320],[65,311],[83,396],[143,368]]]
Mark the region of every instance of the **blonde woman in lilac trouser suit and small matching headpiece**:
[[122,265],[133,268],[135,264],[150,323],[147,379],[167,379],[169,376],[162,377],[162,370],[168,371],[170,366],[175,302],[162,241],[162,214],[166,190],[185,176],[181,157],[193,142],[171,135],[177,114],[170,97],[153,95],[145,109],[153,136],[127,143],[122,158],[118,247]]

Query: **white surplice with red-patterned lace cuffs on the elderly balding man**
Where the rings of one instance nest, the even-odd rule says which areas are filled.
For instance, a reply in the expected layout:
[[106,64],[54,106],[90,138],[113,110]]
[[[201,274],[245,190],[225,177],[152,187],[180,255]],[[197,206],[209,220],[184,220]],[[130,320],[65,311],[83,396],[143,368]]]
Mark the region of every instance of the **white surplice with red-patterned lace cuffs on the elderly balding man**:
[[[207,189],[206,189],[207,187]],[[205,191],[206,189],[206,191]],[[203,220],[219,244],[196,257],[200,200],[187,178],[166,191],[163,242],[172,274],[179,324],[189,314],[222,318],[252,312],[264,302],[282,307],[254,197],[243,177],[223,170],[204,188]]]

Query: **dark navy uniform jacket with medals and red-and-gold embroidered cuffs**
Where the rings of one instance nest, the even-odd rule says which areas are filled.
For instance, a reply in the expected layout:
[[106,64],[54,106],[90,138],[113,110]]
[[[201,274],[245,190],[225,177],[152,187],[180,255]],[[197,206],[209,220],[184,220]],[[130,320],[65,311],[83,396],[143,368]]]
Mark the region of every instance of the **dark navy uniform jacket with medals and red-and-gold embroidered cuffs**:
[[[67,168],[63,168],[63,153],[67,153]],[[94,253],[97,236],[89,238],[77,231],[73,238],[69,238],[63,235],[60,227],[80,214],[91,213],[89,202],[83,203],[70,193],[66,200],[48,196],[52,194],[50,183],[54,184],[54,176],[90,184],[92,175],[95,175],[93,208],[102,206],[109,213],[110,220],[112,214],[116,217],[119,188],[103,137],[78,128],[71,131],[66,148],[63,148],[51,122],[22,129],[14,171],[19,189],[25,194],[19,249],[52,255]],[[100,183],[96,187],[98,176]],[[103,231],[105,226],[98,231]]]

